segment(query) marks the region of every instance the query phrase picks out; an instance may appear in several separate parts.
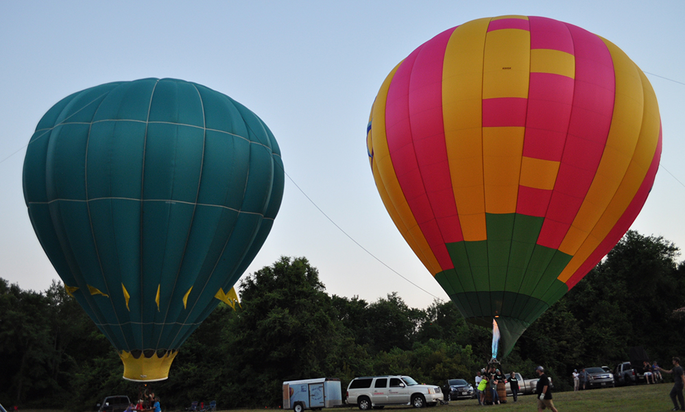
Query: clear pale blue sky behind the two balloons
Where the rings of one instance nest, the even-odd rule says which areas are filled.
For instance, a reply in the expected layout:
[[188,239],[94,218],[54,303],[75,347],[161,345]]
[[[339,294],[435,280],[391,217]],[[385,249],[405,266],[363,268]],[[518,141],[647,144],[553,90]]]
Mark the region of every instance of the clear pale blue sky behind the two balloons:
[[176,77],[258,114],[297,186],[428,293],[352,242],[289,179],[274,229],[248,273],[281,255],[306,256],[331,294],[376,300],[397,291],[420,308],[433,296],[448,299],[385,212],[366,125],[385,76],[413,49],[449,27],[503,14],[583,27],[648,73],[664,152],[633,228],[685,247],[685,1],[0,1],[0,277],[36,291],[59,279],[21,189],[25,146],[40,117],[62,97],[97,84]]

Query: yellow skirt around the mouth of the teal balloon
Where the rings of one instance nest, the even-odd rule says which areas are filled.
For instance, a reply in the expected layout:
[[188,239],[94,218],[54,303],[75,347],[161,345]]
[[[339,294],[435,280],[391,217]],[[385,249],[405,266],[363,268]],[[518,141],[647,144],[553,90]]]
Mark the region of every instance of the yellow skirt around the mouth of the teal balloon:
[[123,362],[123,378],[134,382],[154,382],[169,378],[171,362],[178,350],[123,350],[119,357]]

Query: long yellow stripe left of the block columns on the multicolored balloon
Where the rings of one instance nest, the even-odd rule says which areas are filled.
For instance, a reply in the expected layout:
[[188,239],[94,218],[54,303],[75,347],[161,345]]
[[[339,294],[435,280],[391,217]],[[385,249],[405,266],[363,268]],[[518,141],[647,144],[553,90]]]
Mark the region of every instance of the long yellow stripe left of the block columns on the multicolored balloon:
[[483,241],[483,49],[490,19],[457,27],[445,51],[442,114],[459,223],[465,241]]

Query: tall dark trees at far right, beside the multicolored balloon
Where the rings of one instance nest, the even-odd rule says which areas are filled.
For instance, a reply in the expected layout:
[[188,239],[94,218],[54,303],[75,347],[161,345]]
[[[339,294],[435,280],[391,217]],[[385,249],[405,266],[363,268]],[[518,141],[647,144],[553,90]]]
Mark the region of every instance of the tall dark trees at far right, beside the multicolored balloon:
[[562,298],[584,331],[584,365],[626,361],[632,346],[659,360],[680,353],[683,335],[673,332],[672,316],[685,306],[678,256],[678,248],[662,237],[629,230]]

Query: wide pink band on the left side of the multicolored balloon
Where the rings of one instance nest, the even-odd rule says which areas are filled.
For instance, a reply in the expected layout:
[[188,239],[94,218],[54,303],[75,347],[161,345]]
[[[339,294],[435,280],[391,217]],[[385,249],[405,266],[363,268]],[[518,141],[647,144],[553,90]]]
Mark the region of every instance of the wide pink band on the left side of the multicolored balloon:
[[[442,65],[455,28],[414,50],[396,71],[385,109],[388,149],[411,213],[438,263],[454,267],[445,243],[462,241],[442,119]],[[443,227],[444,221],[450,227]]]

